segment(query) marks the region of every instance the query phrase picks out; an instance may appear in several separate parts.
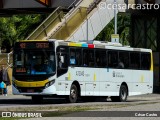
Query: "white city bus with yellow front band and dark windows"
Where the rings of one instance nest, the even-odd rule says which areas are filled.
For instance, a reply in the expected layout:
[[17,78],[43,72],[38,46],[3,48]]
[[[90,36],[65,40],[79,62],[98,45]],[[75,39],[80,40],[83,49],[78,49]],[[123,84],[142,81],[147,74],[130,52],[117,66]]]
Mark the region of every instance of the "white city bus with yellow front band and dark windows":
[[24,40],[13,50],[13,94],[78,98],[128,96],[153,91],[152,50],[100,41]]

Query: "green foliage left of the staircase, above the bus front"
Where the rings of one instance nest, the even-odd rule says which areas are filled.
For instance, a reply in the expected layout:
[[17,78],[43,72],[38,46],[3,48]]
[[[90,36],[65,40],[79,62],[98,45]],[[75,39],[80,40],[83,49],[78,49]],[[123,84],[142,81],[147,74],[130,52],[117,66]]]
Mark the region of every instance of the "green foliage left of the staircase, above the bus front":
[[43,20],[44,16],[39,14],[1,17],[0,46],[10,49],[17,40],[25,39]]

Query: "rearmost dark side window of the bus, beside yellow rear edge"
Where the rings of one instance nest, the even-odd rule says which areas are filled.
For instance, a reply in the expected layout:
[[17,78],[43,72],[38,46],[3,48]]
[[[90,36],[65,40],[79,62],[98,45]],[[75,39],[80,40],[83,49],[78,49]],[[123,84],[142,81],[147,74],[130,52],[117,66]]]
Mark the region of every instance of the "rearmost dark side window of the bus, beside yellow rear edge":
[[151,55],[149,53],[141,53],[141,69],[149,70],[151,66]]

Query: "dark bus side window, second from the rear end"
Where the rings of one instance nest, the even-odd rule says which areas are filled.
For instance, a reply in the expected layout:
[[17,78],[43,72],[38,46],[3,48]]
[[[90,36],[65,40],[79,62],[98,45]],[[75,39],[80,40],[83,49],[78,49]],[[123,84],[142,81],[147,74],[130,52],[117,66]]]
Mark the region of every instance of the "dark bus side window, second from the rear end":
[[130,65],[131,69],[140,69],[140,53],[131,52],[130,53]]

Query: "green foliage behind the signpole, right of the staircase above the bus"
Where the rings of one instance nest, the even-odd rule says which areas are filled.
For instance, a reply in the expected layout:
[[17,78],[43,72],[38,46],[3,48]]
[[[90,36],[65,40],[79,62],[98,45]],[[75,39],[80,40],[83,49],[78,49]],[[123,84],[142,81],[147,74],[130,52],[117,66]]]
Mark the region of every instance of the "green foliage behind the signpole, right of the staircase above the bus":
[[[130,16],[126,14],[118,14],[117,34],[120,36],[120,43],[129,45],[129,27]],[[100,32],[95,38],[100,41],[111,41],[111,34],[114,34],[114,19]]]

